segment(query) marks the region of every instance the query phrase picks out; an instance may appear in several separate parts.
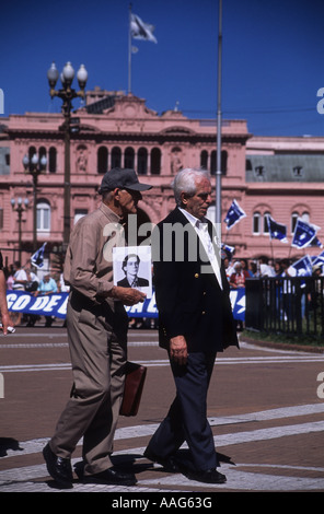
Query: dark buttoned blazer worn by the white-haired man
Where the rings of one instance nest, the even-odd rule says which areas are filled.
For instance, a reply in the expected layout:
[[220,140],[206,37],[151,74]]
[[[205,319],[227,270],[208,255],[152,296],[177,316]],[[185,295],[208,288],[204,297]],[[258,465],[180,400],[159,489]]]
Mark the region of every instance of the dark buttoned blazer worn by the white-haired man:
[[[212,223],[208,229],[212,233]],[[152,257],[160,346],[169,348],[170,338],[183,335],[189,352],[239,347],[224,270],[221,290],[215,273],[204,272],[208,257],[177,208],[154,229]]]

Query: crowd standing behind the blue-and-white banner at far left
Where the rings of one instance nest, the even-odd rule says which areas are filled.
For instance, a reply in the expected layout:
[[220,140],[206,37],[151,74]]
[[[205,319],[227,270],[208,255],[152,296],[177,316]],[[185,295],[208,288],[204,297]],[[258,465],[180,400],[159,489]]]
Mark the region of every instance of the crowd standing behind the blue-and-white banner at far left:
[[[42,271],[42,276],[40,273],[38,276],[37,268],[30,260],[24,266],[15,260],[12,265],[3,268],[3,272],[8,291],[26,291],[33,296],[69,291],[62,273]],[[26,324],[27,327],[33,327],[36,322],[42,319],[38,315],[24,313],[11,313],[11,317],[14,319],[14,325]],[[54,320],[54,316],[45,316],[45,326],[50,327]]]

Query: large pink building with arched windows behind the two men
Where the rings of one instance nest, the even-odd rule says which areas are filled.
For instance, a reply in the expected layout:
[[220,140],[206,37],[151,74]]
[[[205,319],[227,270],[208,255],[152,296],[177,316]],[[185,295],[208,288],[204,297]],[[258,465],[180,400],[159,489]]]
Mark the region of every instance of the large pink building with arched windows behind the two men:
[[[216,120],[189,119],[178,110],[162,115],[149,109],[142,98],[99,87],[86,93],[71,133],[71,227],[99,201],[102,175],[111,167],[134,167],[153,188],[140,202],[139,223],[158,223],[174,208],[170,187],[182,167],[202,166],[216,183]],[[34,236],[32,175],[24,155],[47,157],[36,191],[37,246],[60,253],[63,232],[65,141],[62,115],[26,113],[0,119],[0,247],[10,264],[31,256]],[[79,122],[78,122],[79,121]],[[2,130],[1,130],[2,128]],[[223,241],[235,246],[236,257],[299,257],[290,246],[298,217],[323,227],[324,242],[324,138],[264,138],[248,133],[245,120],[222,122],[222,219],[233,199],[246,218],[227,231]],[[11,200],[27,199],[21,221]],[[22,203],[25,206],[24,201]],[[16,203],[15,203],[16,206]],[[16,209],[16,207],[15,207]],[[215,208],[210,218],[215,218]],[[288,244],[271,245],[265,217],[288,225]],[[322,236],[323,234],[323,236]],[[322,236],[322,237],[321,237]],[[304,250],[302,250],[304,253]],[[309,247],[317,255],[319,247]]]

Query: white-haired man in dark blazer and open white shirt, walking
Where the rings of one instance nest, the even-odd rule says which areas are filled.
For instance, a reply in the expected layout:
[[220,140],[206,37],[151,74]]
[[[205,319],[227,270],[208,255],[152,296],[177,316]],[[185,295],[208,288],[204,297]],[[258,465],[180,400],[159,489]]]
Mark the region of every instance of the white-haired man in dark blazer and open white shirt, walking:
[[[152,234],[160,346],[167,349],[176,397],[144,456],[188,478],[223,483],[207,420],[207,390],[217,352],[238,344],[229,285],[220,265],[207,172],[186,168],[173,183],[177,207]],[[178,467],[175,453],[188,444],[193,466]]]

